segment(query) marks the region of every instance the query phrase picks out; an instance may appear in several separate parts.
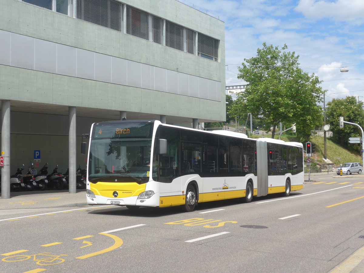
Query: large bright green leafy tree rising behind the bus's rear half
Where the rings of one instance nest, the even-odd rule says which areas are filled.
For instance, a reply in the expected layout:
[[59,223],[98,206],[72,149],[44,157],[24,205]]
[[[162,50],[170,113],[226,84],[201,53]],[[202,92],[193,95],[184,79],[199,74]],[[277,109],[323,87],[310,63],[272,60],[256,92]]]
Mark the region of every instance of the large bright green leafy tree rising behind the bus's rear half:
[[244,59],[238,78],[248,86],[237,94],[230,115],[259,115],[263,130],[268,132],[273,127],[272,138],[280,122],[296,123],[297,135],[305,142],[314,127],[323,123],[318,103],[325,91],[318,86],[322,81],[299,68],[299,56],[284,51],[287,48],[284,45],[280,50],[263,43],[256,57]]

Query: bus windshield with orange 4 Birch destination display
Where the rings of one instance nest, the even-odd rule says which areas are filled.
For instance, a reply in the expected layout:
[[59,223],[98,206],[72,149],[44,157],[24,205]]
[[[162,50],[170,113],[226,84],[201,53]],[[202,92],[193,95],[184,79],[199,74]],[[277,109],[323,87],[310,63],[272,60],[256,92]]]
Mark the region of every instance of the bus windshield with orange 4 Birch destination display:
[[153,122],[94,124],[90,182],[138,182],[149,179]]

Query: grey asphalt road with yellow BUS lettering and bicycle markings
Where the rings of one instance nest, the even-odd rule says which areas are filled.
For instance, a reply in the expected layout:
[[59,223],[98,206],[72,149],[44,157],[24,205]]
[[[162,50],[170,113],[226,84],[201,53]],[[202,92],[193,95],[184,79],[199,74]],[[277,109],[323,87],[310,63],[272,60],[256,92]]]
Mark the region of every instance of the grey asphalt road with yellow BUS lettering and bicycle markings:
[[1,272],[332,272],[364,246],[364,179],[310,178],[290,197],[190,213],[78,202],[1,210]]

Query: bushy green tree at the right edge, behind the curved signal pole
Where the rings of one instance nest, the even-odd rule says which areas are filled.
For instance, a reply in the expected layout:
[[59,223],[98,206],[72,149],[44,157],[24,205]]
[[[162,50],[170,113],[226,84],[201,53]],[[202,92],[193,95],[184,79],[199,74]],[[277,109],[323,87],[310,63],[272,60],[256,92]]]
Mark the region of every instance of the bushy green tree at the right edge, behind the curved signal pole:
[[339,117],[343,116],[345,121],[359,124],[363,128],[364,110],[362,107],[363,102],[357,102],[354,96],[347,96],[344,99],[333,99],[327,103],[326,120],[330,124],[332,140],[352,151],[359,151],[360,147],[357,144],[349,143],[349,138],[361,137],[361,130],[358,126],[345,123],[344,128],[340,128]]

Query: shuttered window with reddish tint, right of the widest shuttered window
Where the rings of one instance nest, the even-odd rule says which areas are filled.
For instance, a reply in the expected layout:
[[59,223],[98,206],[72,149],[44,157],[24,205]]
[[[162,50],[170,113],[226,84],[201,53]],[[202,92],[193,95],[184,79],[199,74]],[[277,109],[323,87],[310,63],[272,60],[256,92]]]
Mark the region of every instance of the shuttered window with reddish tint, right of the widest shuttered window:
[[149,40],[148,13],[127,6],[126,33]]

